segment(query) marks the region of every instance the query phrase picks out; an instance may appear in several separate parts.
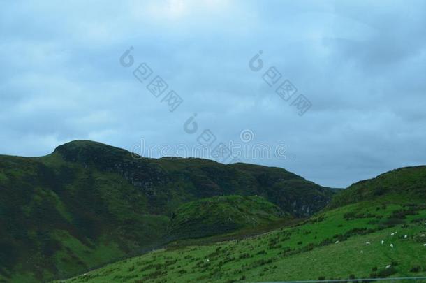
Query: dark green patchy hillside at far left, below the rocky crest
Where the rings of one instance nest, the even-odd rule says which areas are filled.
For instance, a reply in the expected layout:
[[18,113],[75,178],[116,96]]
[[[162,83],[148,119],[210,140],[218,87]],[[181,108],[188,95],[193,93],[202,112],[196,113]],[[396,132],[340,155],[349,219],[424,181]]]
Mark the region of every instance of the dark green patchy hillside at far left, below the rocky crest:
[[[0,157],[0,280],[38,281],[107,263],[162,237],[168,217],[117,174]],[[44,161],[44,160],[43,160]]]

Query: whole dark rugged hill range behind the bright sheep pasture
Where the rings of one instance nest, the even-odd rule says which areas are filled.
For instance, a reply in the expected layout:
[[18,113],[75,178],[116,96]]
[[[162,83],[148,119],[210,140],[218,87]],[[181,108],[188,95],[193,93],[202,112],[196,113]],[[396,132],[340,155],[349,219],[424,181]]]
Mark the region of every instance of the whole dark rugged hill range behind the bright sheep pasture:
[[[280,168],[135,159],[126,150],[82,140],[46,157],[0,156],[0,282],[65,277],[175,238],[197,237],[205,226],[179,222],[179,207],[230,195],[262,196],[303,217],[325,207],[332,191]],[[272,224],[260,212],[254,219]],[[242,224],[235,221],[223,231]]]

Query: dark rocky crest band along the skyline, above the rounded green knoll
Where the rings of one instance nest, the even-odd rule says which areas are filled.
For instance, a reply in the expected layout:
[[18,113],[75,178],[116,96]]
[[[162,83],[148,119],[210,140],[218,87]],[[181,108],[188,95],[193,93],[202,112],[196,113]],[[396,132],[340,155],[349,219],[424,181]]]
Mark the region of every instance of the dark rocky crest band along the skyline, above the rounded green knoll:
[[[168,202],[175,190],[184,187],[186,201],[231,194],[265,197],[295,215],[307,217],[321,210],[331,199],[328,188],[304,180],[282,168],[251,164],[218,164],[205,159],[134,158],[126,150],[90,141],[75,141],[55,152],[69,162],[102,172],[118,173],[152,198],[161,191]],[[166,170],[165,168],[168,168]]]

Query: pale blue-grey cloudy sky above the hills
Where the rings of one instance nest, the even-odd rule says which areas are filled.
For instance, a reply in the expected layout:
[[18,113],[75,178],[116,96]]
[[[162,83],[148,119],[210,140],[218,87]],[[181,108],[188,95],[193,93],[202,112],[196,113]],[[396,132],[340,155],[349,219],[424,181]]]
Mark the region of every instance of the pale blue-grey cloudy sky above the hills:
[[416,0],[0,0],[0,154],[95,140],[327,187],[426,164],[425,27]]

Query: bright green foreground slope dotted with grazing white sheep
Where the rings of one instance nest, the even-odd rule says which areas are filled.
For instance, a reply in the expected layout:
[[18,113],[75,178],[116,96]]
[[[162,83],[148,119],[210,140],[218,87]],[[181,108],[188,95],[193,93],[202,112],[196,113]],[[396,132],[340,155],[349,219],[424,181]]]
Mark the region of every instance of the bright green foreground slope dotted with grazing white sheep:
[[[268,282],[426,276],[425,222],[424,201],[367,201],[253,238],[159,249],[61,282]],[[391,267],[386,268],[388,265]]]

